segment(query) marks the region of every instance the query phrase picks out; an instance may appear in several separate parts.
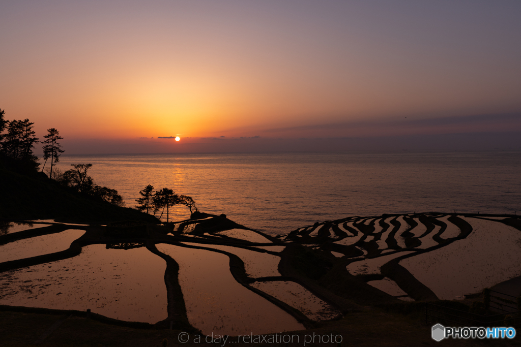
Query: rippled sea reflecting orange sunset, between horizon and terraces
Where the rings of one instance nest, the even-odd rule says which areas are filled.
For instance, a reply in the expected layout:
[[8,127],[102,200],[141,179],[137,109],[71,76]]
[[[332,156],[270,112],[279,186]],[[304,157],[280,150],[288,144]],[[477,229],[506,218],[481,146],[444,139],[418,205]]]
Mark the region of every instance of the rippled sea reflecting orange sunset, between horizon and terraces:
[[[148,184],[167,187],[202,212],[274,236],[348,216],[521,213],[521,150],[64,154],[55,167],[80,163],[93,164],[95,183],[116,189],[126,207]],[[189,216],[177,206],[169,219]]]

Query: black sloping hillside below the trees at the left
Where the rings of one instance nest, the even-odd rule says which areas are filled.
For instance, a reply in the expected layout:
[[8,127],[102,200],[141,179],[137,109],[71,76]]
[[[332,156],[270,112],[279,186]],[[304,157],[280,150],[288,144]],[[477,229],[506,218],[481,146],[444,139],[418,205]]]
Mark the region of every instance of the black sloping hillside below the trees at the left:
[[159,222],[152,215],[78,194],[42,173],[26,176],[0,169],[0,191],[0,219],[3,220],[56,219],[74,223],[122,220]]

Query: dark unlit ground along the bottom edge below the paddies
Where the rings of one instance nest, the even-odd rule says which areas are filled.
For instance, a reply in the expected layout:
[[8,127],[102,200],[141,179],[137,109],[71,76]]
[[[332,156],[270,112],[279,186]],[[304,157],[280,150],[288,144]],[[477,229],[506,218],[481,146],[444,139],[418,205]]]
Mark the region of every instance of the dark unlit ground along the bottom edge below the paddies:
[[[61,323],[59,323],[61,322]],[[56,326],[59,324],[58,326]],[[54,330],[53,330],[54,328]],[[421,322],[420,315],[402,315],[382,310],[364,310],[347,315],[336,322],[328,322],[319,328],[297,332],[284,332],[283,335],[298,335],[299,342],[293,336],[293,343],[265,342],[244,343],[237,339],[226,343],[222,340],[206,343],[205,337],[194,343],[195,336],[190,341],[181,343],[180,330],[144,330],[118,327],[95,322],[91,319],[45,314],[28,314],[18,312],[0,312],[0,336],[2,346],[162,346],[163,339],[168,340],[168,346],[517,346],[521,340],[442,340],[436,342],[430,337],[430,326]],[[305,342],[313,339],[315,343]],[[337,337],[342,336],[341,343],[319,343],[317,335]],[[307,335],[307,337],[306,337]],[[46,337],[43,342],[40,342]],[[181,339],[183,336],[180,337]],[[324,337],[324,339],[326,339]]]

